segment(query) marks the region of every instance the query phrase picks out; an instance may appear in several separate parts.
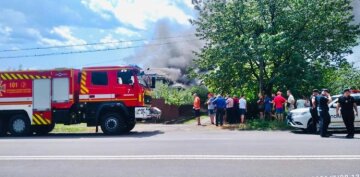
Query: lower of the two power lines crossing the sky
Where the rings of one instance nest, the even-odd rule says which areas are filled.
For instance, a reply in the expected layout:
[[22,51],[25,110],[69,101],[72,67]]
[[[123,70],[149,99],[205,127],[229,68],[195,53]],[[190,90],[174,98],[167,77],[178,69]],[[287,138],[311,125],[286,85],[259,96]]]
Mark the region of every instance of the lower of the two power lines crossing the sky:
[[132,48],[139,48],[139,47],[151,47],[151,46],[161,46],[161,45],[168,45],[174,43],[182,43],[188,41],[196,41],[198,39],[189,39],[183,41],[171,41],[165,43],[158,43],[158,44],[148,44],[148,45],[138,45],[138,46],[127,46],[127,47],[115,47],[115,48],[106,48],[106,49],[94,49],[94,50],[84,50],[84,51],[70,51],[70,52],[53,52],[53,53],[43,53],[43,54],[34,54],[34,55],[15,55],[15,56],[5,56],[0,57],[0,60],[4,59],[14,59],[14,58],[30,58],[30,57],[44,57],[44,56],[53,56],[53,55],[70,55],[70,54],[81,54],[81,53],[94,53],[94,52],[103,52],[103,51],[114,51],[114,50],[122,50],[122,49],[132,49]]

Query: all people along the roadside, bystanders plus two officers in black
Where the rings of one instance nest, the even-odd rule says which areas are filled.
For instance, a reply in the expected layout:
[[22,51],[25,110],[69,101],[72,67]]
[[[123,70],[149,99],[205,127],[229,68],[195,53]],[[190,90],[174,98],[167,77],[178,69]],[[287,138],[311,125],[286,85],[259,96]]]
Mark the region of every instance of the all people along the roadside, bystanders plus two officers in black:
[[[329,137],[327,129],[331,122],[329,114],[329,103],[332,101],[329,90],[323,89],[320,93],[319,90],[314,89],[309,99],[299,100],[297,102],[288,90],[287,98],[283,97],[282,92],[278,91],[276,94],[259,94],[257,100],[257,109],[260,119],[284,121],[284,113],[287,110],[296,109],[296,107],[309,107],[312,116],[313,125],[319,124],[319,134],[321,137]],[[211,124],[216,126],[223,126],[225,122],[229,124],[245,123],[246,112],[248,110],[247,100],[245,95],[241,97],[219,94],[215,96],[212,93],[208,94],[208,99],[205,102],[208,108],[208,115]],[[200,98],[194,94],[194,110],[195,117],[197,118],[198,125],[200,121]],[[341,108],[341,115],[348,131],[347,138],[354,137],[354,119],[358,115],[357,105],[354,98],[351,96],[351,90],[345,89],[343,96],[339,98],[336,114],[339,115]],[[314,132],[317,131],[317,126],[314,126]]]

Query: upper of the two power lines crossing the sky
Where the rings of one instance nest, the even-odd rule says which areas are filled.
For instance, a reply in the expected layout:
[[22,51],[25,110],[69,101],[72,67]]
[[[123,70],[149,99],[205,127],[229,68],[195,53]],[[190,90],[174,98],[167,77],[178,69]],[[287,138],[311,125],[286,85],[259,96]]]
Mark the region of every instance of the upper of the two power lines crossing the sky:
[[5,49],[5,50],[0,50],[0,53],[29,51],[29,50],[45,50],[45,49],[55,49],[55,48],[81,47],[81,46],[94,46],[94,45],[107,45],[107,44],[119,44],[119,43],[126,43],[126,42],[156,41],[156,40],[163,40],[163,39],[184,38],[184,37],[191,37],[191,36],[194,36],[194,35],[189,34],[189,35],[181,35],[181,36],[160,37],[160,38],[154,38],[154,39],[145,39],[145,38],[143,38],[143,39],[133,39],[133,40],[127,40],[127,41],[94,42],[94,43],[86,43],[86,44],[58,45],[58,46],[50,46],[50,47],[31,47],[31,48],[22,48],[22,49]]

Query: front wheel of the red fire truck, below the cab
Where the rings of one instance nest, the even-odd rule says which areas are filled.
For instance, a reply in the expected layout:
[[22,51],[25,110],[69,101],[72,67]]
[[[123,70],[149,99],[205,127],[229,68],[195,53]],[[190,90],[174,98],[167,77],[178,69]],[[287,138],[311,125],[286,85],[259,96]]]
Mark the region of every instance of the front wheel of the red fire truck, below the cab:
[[126,132],[125,121],[118,113],[107,113],[101,117],[101,130],[107,135]]

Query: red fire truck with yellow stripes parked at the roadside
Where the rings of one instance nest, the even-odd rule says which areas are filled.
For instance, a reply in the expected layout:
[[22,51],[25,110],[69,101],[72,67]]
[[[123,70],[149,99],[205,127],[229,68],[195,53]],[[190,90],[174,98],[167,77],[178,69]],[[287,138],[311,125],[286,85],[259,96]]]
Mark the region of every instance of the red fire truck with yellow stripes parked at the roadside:
[[46,134],[55,124],[78,123],[108,135],[129,132],[136,119],[151,117],[155,78],[143,73],[137,66],[0,72],[0,134]]

